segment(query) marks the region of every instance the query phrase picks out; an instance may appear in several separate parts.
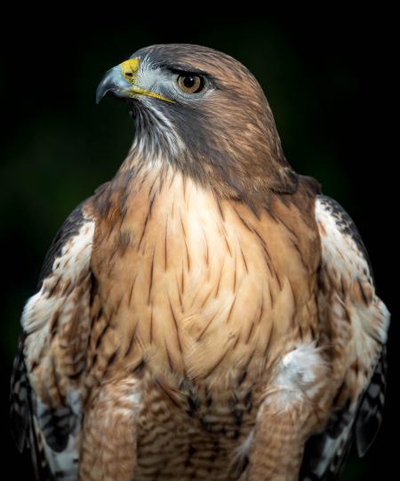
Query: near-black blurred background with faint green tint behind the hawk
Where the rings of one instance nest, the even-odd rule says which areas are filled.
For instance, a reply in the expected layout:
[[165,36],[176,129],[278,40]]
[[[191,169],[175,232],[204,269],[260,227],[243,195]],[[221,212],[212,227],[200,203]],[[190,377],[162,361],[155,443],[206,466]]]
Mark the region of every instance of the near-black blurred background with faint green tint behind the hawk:
[[26,11],[25,20],[3,19],[10,24],[2,30],[0,68],[0,420],[3,469],[13,479],[31,479],[28,458],[14,449],[8,426],[20,311],[34,293],[52,236],[76,204],[113,176],[132,141],[124,103],[106,99],[97,107],[96,86],[108,68],[140,47],[172,42],[208,45],[250,68],[267,93],[292,166],[320,180],[324,193],[356,221],[378,293],[394,318],[383,426],[372,450],[361,462],[353,456],[342,479],[396,477],[398,121],[391,85],[396,85],[398,58],[393,14],[383,7],[351,15],[332,8],[296,12],[290,19],[283,12],[239,20],[238,12],[235,18],[210,20],[198,14],[204,7],[188,4],[194,10],[185,20],[175,17],[172,8],[179,10],[178,5],[149,4],[132,4],[120,15],[108,4],[109,18],[101,22],[66,12],[41,21]]

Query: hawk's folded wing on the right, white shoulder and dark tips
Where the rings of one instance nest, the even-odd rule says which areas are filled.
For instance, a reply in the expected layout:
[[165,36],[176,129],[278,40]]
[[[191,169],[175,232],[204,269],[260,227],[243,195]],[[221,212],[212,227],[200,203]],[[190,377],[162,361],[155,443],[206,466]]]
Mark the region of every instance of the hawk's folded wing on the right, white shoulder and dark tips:
[[337,479],[356,441],[372,445],[385,397],[390,315],[375,293],[372,268],[354,222],[328,196],[316,197],[321,238],[318,309],[322,341],[332,363],[332,412],[323,432],[308,440],[300,479]]

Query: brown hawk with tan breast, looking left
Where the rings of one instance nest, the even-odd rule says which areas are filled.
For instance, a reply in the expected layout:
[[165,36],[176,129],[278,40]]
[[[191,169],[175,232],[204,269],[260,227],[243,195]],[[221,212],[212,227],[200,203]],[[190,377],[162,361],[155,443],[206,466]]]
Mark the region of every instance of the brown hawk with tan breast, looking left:
[[143,48],[97,91],[136,125],[22,314],[12,421],[36,477],[328,480],[380,426],[388,309],[353,221],[284,157],[230,56]]

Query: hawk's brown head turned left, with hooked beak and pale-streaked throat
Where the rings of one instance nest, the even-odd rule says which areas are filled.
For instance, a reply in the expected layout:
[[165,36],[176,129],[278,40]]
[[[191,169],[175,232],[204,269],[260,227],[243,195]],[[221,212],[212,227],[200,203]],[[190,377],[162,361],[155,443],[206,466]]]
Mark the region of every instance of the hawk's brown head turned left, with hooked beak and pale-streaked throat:
[[191,44],[140,49],[108,70],[97,102],[106,94],[128,102],[132,155],[161,158],[223,196],[296,189],[260,84],[225,53]]

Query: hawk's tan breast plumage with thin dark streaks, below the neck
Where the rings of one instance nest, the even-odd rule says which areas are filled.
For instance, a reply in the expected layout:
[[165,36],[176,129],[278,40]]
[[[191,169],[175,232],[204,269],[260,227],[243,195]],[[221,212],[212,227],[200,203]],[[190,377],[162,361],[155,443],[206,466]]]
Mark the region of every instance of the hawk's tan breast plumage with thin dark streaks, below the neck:
[[277,340],[289,350],[299,331],[311,337],[316,239],[293,206],[276,207],[285,226],[156,168],[110,189],[92,260],[108,354],[145,359],[155,377],[220,385],[249,362],[265,372]]

